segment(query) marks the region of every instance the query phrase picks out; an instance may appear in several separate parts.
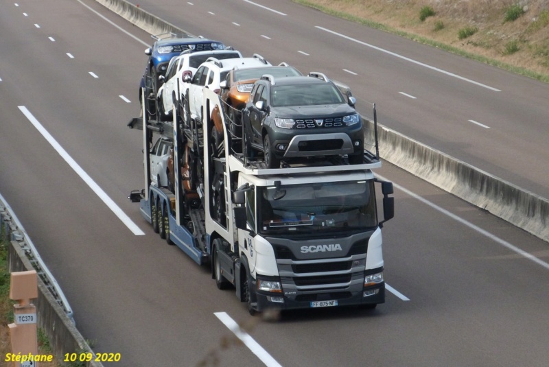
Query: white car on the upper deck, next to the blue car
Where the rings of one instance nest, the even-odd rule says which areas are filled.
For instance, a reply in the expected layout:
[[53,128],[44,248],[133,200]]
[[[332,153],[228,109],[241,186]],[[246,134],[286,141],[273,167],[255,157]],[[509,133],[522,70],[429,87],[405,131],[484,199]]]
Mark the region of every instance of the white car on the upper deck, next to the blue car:
[[223,60],[227,58],[242,58],[239,51],[233,49],[224,49],[216,51],[193,51],[188,49],[179,56],[172,58],[166,69],[166,74],[161,75],[159,82],[161,86],[156,95],[159,102],[161,119],[170,119],[172,108],[178,101],[180,95],[180,85],[183,83],[183,73],[196,73],[196,69],[208,58],[217,58]]

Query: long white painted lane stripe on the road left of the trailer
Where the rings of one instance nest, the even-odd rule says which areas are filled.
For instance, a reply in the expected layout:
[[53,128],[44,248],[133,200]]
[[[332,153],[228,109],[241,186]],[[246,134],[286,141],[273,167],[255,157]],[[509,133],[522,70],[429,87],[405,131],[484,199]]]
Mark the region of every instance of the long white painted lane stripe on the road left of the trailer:
[[38,130],[38,132],[40,132],[40,134],[45,137],[48,143],[50,143],[51,146],[54,147],[59,155],[63,159],[65,159],[67,163],[69,163],[69,166],[74,169],[76,174],[78,174],[78,176],[80,176],[80,178],[82,178],[82,180],[86,182],[86,184],[93,190],[93,192],[95,192],[97,196],[99,196],[100,199],[103,200],[106,206],[108,206],[108,208],[113,211],[113,213],[115,213],[115,215],[119,217],[119,219],[124,224],[126,224],[126,226],[132,231],[134,235],[145,235],[145,233],[143,233],[143,231],[139,229],[139,227],[134,222],[132,222],[132,220],[130,220],[130,217],[128,217],[128,215],[126,215],[126,213],[124,213],[124,211],[122,211],[122,209],[120,209],[119,206],[115,202],[113,202],[111,198],[108,197],[105,191],[103,191],[103,189],[101,189],[101,187],[99,187],[99,185],[97,185],[97,183],[95,183],[95,181],[88,174],[86,174],[84,169],[82,169],[82,167],[80,167],[80,165],[78,165],[78,163],[76,163],[74,159],[69,156],[69,153],[67,153],[67,151],[63,149],[63,147],[56,141],[56,139],[54,139],[54,137],[52,137],[51,134],[47,132],[44,126],[42,126],[42,124],[34,117],[34,115],[32,115],[32,113],[30,113],[29,110],[27,110],[25,106],[19,106],[19,110],[21,110],[23,115],[25,115],[25,117],[29,119],[29,121],[34,125],[36,130]]

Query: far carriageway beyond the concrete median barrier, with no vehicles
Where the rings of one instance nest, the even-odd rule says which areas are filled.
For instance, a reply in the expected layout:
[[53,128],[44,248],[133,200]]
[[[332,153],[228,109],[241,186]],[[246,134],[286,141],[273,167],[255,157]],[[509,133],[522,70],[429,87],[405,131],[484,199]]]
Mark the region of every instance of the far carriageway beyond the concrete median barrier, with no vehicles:
[[289,0],[130,3],[193,34],[325,72],[351,86],[361,113],[371,116],[375,102],[384,125],[549,198],[549,167],[537,163],[549,159],[547,84]]

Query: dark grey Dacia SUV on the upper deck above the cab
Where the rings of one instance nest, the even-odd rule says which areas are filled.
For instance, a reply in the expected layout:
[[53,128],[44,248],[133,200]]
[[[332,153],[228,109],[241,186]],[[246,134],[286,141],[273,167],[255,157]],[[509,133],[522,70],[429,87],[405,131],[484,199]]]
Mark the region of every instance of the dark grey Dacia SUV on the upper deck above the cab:
[[283,158],[339,154],[347,154],[351,164],[363,163],[364,131],[355,103],[322,73],[263,75],[242,111],[246,147],[262,150],[268,168],[279,167]]

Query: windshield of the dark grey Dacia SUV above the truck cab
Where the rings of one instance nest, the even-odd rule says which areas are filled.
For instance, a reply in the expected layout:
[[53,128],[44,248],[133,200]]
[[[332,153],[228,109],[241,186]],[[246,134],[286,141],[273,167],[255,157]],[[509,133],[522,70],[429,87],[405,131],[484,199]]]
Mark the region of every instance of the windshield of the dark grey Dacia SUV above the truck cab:
[[338,88],[331,83],[273,86],[271,106],[314,106],[345,103]]

